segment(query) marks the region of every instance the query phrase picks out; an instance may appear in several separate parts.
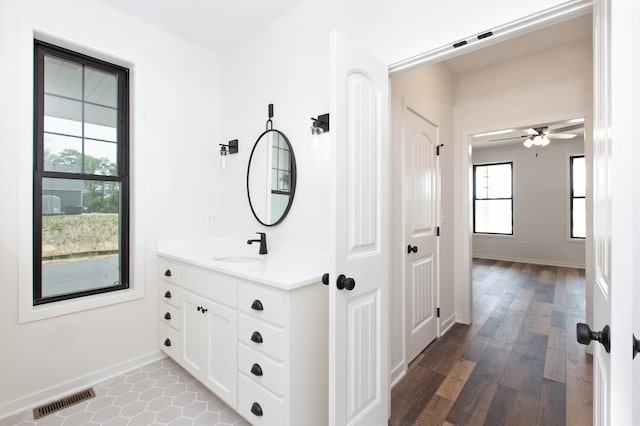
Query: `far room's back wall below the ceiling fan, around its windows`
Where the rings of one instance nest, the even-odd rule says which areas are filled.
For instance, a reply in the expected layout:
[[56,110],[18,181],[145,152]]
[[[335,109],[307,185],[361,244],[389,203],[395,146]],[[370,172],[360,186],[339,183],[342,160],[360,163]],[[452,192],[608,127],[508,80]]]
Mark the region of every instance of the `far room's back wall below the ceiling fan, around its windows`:
[[473,150],[473,163],[513,162],[513,236],[475,234],[473,256],[584,268],[584,240],[570,239],[569,157],[584,139],[553,140],[544,148],[521,143]]

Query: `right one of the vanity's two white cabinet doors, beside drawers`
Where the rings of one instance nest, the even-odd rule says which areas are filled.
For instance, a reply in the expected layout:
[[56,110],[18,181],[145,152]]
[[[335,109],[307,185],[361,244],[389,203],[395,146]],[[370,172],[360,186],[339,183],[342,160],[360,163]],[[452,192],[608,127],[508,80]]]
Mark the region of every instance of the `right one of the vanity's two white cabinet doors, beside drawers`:
[[207,308],[211,352],[205,385],[235,408],[238,370],[236,312],[214,302],[209,302]]

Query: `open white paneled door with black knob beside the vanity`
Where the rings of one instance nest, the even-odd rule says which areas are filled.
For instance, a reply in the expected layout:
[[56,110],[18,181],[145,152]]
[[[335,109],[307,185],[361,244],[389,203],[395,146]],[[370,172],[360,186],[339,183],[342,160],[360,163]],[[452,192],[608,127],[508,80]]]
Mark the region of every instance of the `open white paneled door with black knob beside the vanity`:
[[337,32],[331,61],[329,422],[386,425],[389,75]]

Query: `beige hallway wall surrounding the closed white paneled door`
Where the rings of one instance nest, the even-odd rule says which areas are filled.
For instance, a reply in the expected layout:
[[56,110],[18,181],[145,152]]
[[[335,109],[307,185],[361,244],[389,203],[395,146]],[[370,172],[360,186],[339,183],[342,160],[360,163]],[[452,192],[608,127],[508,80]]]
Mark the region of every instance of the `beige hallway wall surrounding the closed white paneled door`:
[[[402,218],[402,108],[408,105],[438,126],[441,150],[442,184],[451,186],[452,141],[453,141],[453,75],[443,64],[428,65],[391,77],[391,281],[389,288],[389,336],[391,381],[399,378],[405,363],[405,312],[404,312],[404,229]],[[448,215],[453,210],[453,194],[442,194],[439,306],[441,329],[453,324],[455,319],[453,285],[453,222]]]

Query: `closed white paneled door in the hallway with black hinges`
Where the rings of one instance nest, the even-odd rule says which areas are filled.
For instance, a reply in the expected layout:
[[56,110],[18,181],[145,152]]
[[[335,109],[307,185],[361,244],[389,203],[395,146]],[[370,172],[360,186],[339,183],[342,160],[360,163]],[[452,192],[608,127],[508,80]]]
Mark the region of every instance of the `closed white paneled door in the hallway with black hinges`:
[[403,105],[407,364],[438,333],[438,127]]

